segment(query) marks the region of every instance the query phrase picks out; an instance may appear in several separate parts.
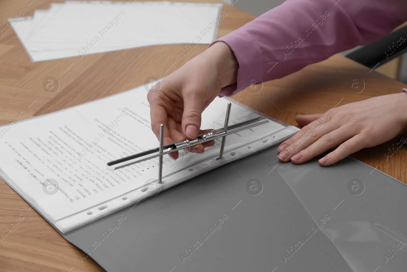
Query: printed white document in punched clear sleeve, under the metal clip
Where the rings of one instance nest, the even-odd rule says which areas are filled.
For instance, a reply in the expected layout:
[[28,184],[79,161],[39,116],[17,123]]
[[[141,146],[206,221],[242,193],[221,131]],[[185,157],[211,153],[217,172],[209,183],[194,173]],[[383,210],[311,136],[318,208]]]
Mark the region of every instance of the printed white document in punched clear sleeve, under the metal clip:
[[[63,233],[135,205],[158,177],[158,158],[108,170],[107,162],[158,147],[151,131],[147,86],[0,127],[0,176]],[[203,113],[201,128],[222,128],[258,117],[234,100],[217,97]],[[179,152],[163,159],[165,190],[203,172],[280,142],[298,131],[275,119],[229,135],[225,159],[216,160],[221,138],[203,154]]]

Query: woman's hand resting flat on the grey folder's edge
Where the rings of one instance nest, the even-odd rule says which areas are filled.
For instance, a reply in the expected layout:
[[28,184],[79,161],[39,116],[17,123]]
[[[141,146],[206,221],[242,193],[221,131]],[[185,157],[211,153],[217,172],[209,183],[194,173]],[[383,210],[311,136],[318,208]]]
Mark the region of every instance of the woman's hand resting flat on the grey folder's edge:
[[304,127],[280,144],[278,159],[301,164],[337,147],[319,160],[319,164],[328,166],[362,148],[406,133],[407,93],[373,97],[331,108],[324,114],[297,115],[295,121]]

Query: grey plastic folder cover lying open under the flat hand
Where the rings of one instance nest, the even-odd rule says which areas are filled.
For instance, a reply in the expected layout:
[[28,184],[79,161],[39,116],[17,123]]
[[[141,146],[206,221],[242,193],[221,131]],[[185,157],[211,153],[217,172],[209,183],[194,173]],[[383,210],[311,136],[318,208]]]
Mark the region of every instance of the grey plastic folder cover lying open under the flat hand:
[[406,185],[275,147],[63,235],[107,271],[407,271]]

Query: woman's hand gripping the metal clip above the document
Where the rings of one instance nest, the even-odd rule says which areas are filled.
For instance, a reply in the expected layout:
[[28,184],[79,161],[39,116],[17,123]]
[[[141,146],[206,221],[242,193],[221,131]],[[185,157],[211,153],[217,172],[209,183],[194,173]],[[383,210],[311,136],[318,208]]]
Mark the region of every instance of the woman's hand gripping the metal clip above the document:
[[[147,94],[155,136],[160,137],[160,124],[164,124],[164,145],[204,133],[200,130],[201,114],[223,86],[237,81],[237,65],[229,46],[217,42],[155,84]],[[214,141],[189,151],[203,153],[206,146],[212,145]],[[178,152],[170,157],[177,159]]]

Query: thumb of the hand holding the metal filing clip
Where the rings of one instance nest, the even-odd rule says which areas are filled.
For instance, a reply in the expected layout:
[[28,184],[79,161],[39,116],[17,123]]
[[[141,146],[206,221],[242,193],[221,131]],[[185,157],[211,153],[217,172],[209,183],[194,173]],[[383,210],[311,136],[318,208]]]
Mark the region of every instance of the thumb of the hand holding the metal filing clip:
[[196,97],[189,95],[184,100],[184,113],[182,115],[182,133],[188,139],[195,139],[201,128],[201,114],[204,103]]

